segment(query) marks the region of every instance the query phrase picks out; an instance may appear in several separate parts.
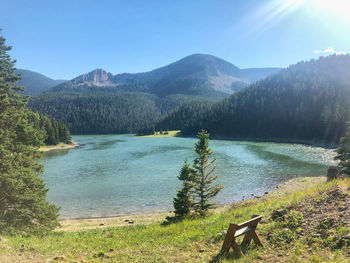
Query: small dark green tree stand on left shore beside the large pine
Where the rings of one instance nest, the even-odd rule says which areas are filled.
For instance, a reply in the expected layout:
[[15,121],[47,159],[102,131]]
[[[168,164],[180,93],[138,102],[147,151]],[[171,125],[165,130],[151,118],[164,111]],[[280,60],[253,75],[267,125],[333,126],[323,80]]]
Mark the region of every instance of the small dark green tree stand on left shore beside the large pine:
[[69,130],[63,122],[50,119],[47,115],[40,115],[39,121],[36,125],[39,129],[46,132],[44,140],[45,145],[56,145],[60,142],[72,142]]

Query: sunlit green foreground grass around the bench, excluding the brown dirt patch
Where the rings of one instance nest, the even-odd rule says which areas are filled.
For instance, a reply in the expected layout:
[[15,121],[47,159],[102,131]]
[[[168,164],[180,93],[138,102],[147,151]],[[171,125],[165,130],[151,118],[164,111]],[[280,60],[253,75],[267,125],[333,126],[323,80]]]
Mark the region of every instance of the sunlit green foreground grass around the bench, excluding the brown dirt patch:
[[[306,197],[317,196],[336,185],[350,186],[350,180],[322,183],[304,191],[284,196],[253,199],[230,208],[219,209],[205,219],[185,220],[160,226],[135,225],[103,229],[54,232],[45,237],[2,237],[1,262],[209,262],[221,249],[230,222],[243,222],[252,214],[260,214],[263,221],[257,233],[264,249],[252,245],[237,262],[347,262],[345,250],[313,245],[308,247],[301,239],[289,243],[268,240],[273,233],[285,238],[288,231],[267,220],[274,209],[299,204]],[[349,233],[349,227],[339,229]],[[236,259],[231,253],[222,262]],[[268,259],[268,260],[266,260]]]

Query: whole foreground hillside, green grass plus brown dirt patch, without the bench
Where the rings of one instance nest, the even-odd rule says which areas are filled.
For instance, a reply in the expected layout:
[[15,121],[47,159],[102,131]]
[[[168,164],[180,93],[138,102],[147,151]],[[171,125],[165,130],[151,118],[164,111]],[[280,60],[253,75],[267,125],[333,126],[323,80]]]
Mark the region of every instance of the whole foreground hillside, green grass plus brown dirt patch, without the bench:
[[[0,258],[2,262],[209,262],[216,259],[230,222],[260,214],[263,221],[257,233],[264,248],[250,246],[238,262],[348,262],[350,180],[319,180],[301,179],[303,187],[297,192],[290,193],[289,187],[218,209],[202,220],[166,227],[97,225],[45,238],[1,237]],[[276,218],[277,209],[282,217]],[[222,262],[234,258],[231,252]]]

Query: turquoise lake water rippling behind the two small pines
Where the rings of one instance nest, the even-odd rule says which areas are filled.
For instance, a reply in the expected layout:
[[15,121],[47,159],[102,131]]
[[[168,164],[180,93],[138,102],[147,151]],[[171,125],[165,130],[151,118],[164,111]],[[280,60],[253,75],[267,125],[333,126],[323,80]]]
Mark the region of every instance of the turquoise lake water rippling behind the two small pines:
[[[78,148],[47,152],[41,159],[48,200],[61,218],[113,216],[172,209],[185,158],[195,157],[194,138],[132,135],[73,136]],[[276,184],[324,175],[332,150],[298,144],[211,140],[216,175],[224,189],[216,203],[262,195]]]

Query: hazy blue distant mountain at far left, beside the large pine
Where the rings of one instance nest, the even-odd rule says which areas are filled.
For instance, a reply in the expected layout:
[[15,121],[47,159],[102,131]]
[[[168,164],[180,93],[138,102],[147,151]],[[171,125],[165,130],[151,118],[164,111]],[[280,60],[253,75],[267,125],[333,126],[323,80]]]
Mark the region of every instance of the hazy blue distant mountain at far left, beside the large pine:
[[39,94],[66,81],[54,80],[40,73],[25,69],[17,69],[16,73],[21,74],[22,79],[17,84],[24,87],[23,94],[25,95]]

